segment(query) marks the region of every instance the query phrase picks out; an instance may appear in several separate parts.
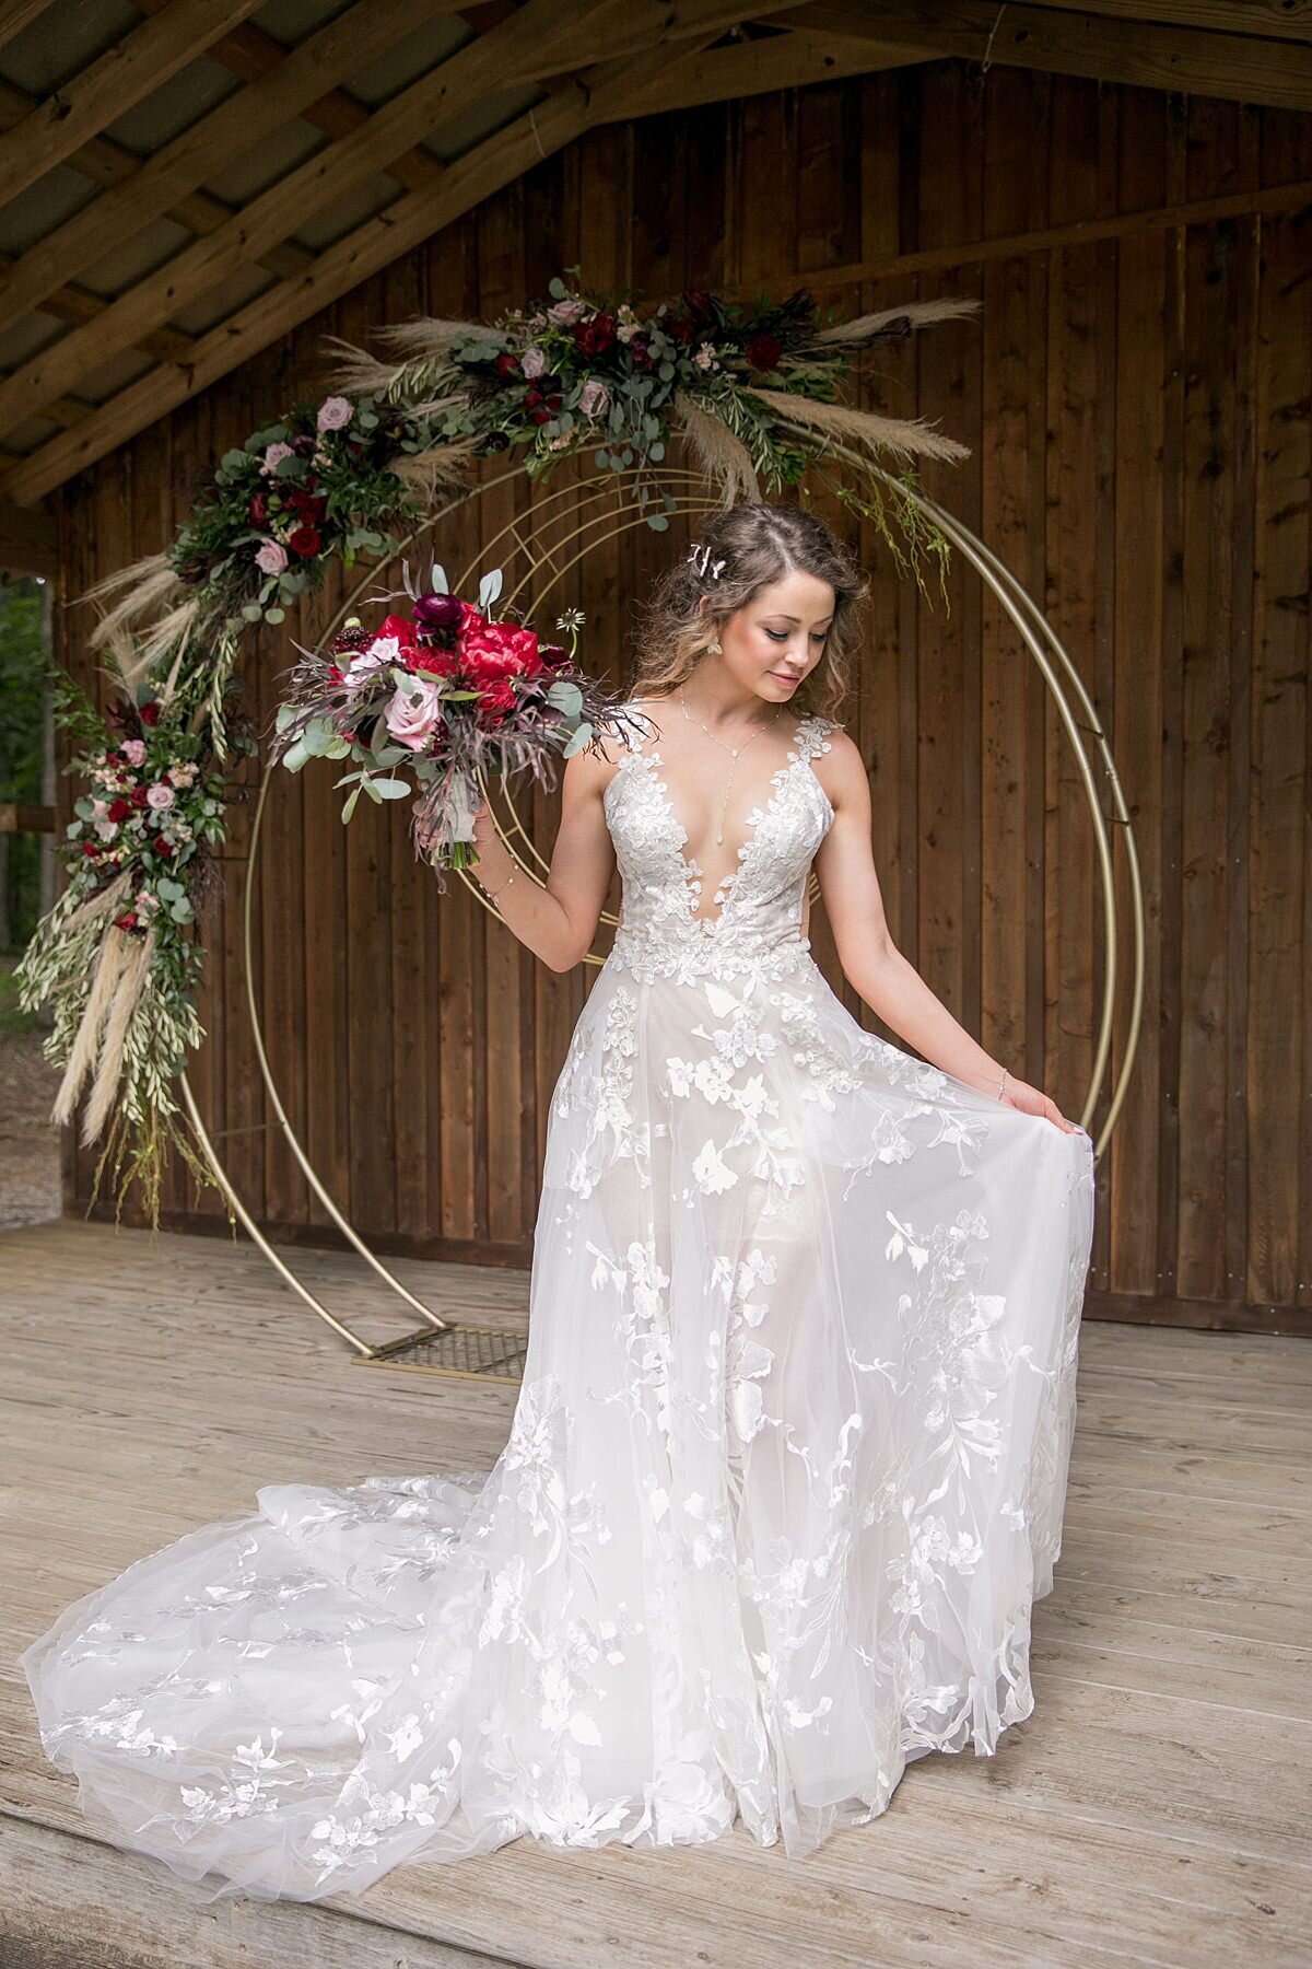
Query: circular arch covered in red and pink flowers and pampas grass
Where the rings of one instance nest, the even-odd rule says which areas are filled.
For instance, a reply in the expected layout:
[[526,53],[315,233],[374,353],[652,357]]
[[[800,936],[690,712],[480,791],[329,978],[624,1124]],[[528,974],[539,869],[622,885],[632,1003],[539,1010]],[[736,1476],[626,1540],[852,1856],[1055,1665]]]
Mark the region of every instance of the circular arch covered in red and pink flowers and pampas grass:
[[[563,496],[580,502],[604,486],[614,500],[624,488],[633,510],[627,524],[655,532],[667,530],[688,498],[706,510],[773,496],[812,475],[875,524],[899,573],[921,587],[926,565],[936,563],[946,599],[948,553],[956,545],[966,555],[1054,693],[1098,829],[1109,961],[1086,1099],[1092,1111],[1109,1057],[1115,910],[1109,833],[1086,738],[1109,780],[1133,898],[1139,894],[1129,813],[1105,734],[1033,601],[919,486],[917,459],[962,459],[966,447],[924,421],[883,417],[846,400],[862,350],[976,309],[972,299],[928,301],[822,321],[803,289],[755,307],[686,291],[643,313],[627,299],[584,295],[557,278],[541,301],[496,323],[419,319],[382,331],[389,362],[336,343],[338,394],[299,402],[224,453],[171,545],[87,597],[100,608],[90,644],[116,677],[108,711],[98,713],[63,671],[55,673],[55,715],[73,740],[67,770],[87,790],[61,843],[67,886],[37,925],[18,984],[26,1008],[53,1000],[45,1055],[63,1069],[53,1120],[71,1120],[87,1093],[83,1142],[102,1142],[92,1205],[108,1170],[116,1209],[140,1179],[155,1225],[163,1162],[177,1148],[197,1181],[216,1183],[230,1215],[236,1209],[268,1252],[232,1193],[185,1075],[205,1038],[195,1012],[205,959],[197,916],[218,880],[212,851],[226,839],[226,772],[234,754],[260,752],[236,705],[242,644],[258,624],[283,624],[332,565],[364,563],[360,593],[447,512],[476,496],[476,461],[498,457],[506,476],[543,480],[559,461],[590,455],[596,480]],[[671,445],[681,445],[685,469],[673,467]],[[1076,697],[1074,711],[1058,677]],[[541,880],[533,866],[543,864],[541,855],[519,825],[515,835],[507,837],[511,853]],[[1141,921],[1141,908],[1133,920]],[[1103,1138],[1133,1057],[1141,979],[1139,929],[1131,1046]],[[289,1128],[262,1044],[258,1051],[275,1112]],[[295,1140],[293,1148],[303,1158]],[[334,1207],[332,1215],[360,1244]]]

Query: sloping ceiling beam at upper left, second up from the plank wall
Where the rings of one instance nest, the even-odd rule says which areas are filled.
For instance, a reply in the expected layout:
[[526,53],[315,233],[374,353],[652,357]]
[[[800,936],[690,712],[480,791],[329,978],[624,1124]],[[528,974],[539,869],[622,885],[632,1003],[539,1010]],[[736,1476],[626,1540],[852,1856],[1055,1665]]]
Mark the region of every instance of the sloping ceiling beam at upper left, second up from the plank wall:
[[[665,0],[527,0],[502,26],[393,96],[360,130],[252,199],[210,238],[183,248],[159,272],[138,282],[106,309],[94,329],[75,329],[14,370],[0,384],[0,431],[73,390],[89,366],[118,349],[134,347],[179,307],[260,258],[309,213],[388,171],[391,158],[409,150],[417,136],[464,116],[480,96],[578,67],[586,61],[588,43],[627,57],[669,49],[690,33],[718,37],[734,24],[740,8],[742,0],[683,0],[677,10],[665,6]],[[447,169],[439,167],[441,175],[423,189],[439,189]],[[380,224],[389,224],[391,209],[378,215]],[[315,266],[301,276],[303,282],[315,278]]]

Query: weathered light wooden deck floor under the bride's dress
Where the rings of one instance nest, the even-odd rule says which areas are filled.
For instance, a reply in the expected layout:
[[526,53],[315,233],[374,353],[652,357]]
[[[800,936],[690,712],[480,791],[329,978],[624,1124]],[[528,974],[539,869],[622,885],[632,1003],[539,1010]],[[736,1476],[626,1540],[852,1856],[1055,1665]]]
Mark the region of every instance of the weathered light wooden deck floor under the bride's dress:
[[[297,1264],[368,1333],[366,1270]],[[523,1274],[397,1266],[523,1321]],[[248,1244],[61,1221],[0,1237],[0,1959],[6,1969],[1308,1963],[1312,1347],[1086,1327],[1037,1713],[924,1758],[891,1810],[789,1861],[519,1839],[360,1902],[199,1906],[83,1831],[14,1656],[67,1601],[264,1483],[488,1467],[515,1390],[352,1366]]]

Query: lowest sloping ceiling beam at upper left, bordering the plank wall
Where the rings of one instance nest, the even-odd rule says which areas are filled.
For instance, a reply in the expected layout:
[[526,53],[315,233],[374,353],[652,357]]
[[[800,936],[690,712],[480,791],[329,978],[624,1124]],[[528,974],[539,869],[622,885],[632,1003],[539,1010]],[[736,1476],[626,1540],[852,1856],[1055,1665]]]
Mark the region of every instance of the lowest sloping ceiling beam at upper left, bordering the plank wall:
[[370,219],[348,238],[328,246],[305,280],[287,282],[281,289],[260,295],[210,335],[201,337],[185,370],[161,364],[112,398],[87,425],[51,439],[33,457],[24,459],[0,480],[0,496],[26,506],[87,465],[94,465],[157,417],[218,382],[256,350],[268,349],[279,335],[338,295],[350,293],[370,274],[389,266],[397,254],[409,252],[411,246],[419,246],[494,197],[541,158],[570,144],[590,124],[629,114],[626,104],[639,100],[641,91],[657,75],[681,55],[696,57],[706,39],[716,39],[722,32],[724,28],[716,26],[688,37],[686,49],[661,45],[606,63],[602,69],[588,69],[576,81],[565,83],[545,102],[525,110],[450,163],[441,183],[407,193],[378,219]]

